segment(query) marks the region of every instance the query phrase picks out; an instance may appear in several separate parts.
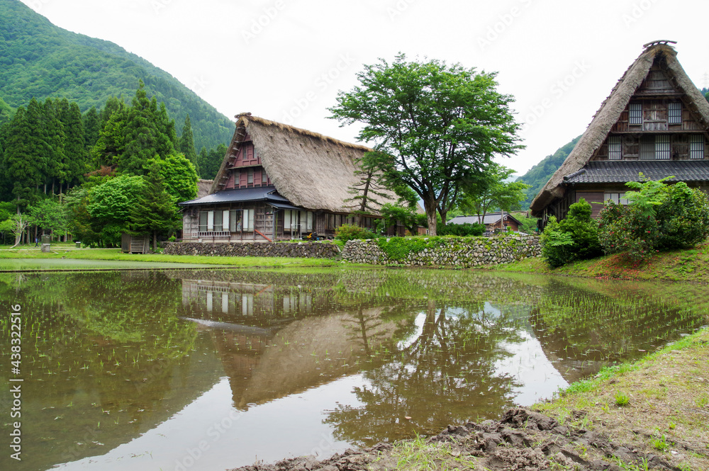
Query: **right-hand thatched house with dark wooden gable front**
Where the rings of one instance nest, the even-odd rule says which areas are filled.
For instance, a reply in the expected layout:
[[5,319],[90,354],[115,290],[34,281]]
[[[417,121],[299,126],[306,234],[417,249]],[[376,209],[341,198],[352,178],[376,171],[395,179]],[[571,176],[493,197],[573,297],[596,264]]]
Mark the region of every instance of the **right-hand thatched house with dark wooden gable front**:
[[[601,103],[586,132],[530,205],[532,216],[566,216],[580,198],[623,202],[624,183],[676,176],[705,187],[709,103],[677,61],[672,41],[644,50]],[[593,205],[598,215],[602,204]]]

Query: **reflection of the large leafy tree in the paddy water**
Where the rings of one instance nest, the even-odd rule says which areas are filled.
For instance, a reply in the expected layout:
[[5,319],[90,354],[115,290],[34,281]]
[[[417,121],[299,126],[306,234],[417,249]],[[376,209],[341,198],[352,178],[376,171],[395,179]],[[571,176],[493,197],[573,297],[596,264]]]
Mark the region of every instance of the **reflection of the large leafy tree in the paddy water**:
[[494,367],[508,355],[498,343],[519,341],[513,319],[492,316],[481,304],[437,308],[435,300],[422,314],[420,335],[391,346],[388,358],[364,373],[370,384],[354,390],[363,405],[341,405],[325,419],[337,438],[371,445],[414,430],[437,433],[441,424],[499,414],[513,404],[510,392],[517,385]]

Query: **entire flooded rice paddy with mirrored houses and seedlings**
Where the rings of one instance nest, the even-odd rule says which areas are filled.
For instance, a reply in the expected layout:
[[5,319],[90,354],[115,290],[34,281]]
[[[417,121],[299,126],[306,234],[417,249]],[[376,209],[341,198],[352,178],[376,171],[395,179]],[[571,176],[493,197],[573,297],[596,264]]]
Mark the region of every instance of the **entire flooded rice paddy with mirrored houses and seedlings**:
[[5,446],[0,467],[220,470],[437,433],[707,324],[708,294],[469,271],[4,274],[0,406],[22,460]]

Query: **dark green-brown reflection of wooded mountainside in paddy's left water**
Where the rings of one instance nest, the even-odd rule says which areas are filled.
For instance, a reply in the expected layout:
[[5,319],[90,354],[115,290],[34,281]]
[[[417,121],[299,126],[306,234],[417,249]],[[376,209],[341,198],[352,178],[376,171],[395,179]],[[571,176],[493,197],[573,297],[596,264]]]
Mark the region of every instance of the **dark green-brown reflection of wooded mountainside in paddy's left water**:
[[[189,356],[196,328],[177,318],[181,283],[163,273],[4,276],[0,293],[13,285],[9,299],[22,306],[25,322],[22,373],[35,385],[23,389],[27,469],[105,453],[218,378]],[[4,326],[0,346],[0,360],[9,363]]]

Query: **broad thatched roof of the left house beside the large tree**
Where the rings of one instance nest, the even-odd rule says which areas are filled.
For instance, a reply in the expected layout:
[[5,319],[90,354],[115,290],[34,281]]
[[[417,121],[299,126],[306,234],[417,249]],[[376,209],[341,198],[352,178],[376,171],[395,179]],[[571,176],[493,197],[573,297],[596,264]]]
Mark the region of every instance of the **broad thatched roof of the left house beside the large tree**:
[[[372,149],[342,142],[317,132],[252,116],[236,116],[236,130],[211,193],[223,188],[229,160],[250,137],[261,163],[279,194],[310,210],[351,212],[345,203],[348,188],[359,181],[355,161]],[[396,195],[391,192],[392,198]]]

